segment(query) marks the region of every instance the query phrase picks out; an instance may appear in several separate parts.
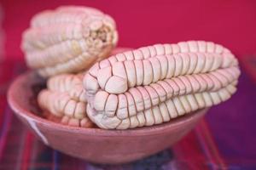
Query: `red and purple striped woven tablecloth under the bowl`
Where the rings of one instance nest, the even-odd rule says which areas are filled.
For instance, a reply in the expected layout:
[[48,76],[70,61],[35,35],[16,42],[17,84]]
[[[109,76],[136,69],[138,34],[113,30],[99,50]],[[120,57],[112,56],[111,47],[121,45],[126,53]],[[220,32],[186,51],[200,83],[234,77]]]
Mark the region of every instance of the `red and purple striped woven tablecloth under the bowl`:
[[256,88],[243,72],[238,92],[160,153],[119,166],[96,165],[52,150],[14,116],[6,100],[22,61],[0,64],[0,169],[256,169]]

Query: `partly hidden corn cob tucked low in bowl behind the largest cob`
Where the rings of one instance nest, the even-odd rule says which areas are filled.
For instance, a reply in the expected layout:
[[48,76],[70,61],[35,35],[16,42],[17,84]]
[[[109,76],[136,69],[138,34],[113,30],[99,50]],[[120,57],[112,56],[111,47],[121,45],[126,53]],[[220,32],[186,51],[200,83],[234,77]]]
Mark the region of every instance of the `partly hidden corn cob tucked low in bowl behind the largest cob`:
[[76,127],[92,127],[86,114],[83,74],[50,77],[47,89],[38,94],[38,105],[48,119]]

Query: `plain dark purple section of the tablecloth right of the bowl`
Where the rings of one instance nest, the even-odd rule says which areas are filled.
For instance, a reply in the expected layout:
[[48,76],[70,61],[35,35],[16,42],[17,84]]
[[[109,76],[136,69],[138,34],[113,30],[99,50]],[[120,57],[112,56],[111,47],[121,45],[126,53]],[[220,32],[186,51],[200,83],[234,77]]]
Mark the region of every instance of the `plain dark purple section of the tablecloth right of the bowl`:
[[[235,95],[212,107],[207,122],[227,164],[256,168],[256,86],[242,71]],[[239,165],[239,166],[237,166]]]

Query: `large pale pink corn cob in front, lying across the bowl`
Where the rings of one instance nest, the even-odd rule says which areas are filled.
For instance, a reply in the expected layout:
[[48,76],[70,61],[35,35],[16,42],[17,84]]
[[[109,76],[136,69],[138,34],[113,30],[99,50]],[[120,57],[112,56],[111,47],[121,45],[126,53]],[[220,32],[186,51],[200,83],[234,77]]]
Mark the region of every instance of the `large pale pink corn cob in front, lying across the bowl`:
[[239,75],[235,56],[213,42],[138,48],[90,68],[84,76],[86,110],[102,128],[169,122],[229,99]]

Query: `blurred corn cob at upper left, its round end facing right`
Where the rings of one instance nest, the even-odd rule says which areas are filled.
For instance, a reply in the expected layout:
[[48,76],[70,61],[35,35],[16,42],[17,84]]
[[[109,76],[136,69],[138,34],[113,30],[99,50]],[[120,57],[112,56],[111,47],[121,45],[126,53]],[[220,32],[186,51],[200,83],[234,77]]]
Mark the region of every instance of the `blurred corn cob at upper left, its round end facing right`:
[[43,77],[85,70],[118,41],[114,20],[96,8],[64,6],[36,14],[22,37],[26,64]]

